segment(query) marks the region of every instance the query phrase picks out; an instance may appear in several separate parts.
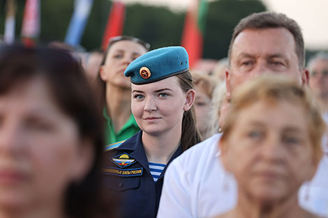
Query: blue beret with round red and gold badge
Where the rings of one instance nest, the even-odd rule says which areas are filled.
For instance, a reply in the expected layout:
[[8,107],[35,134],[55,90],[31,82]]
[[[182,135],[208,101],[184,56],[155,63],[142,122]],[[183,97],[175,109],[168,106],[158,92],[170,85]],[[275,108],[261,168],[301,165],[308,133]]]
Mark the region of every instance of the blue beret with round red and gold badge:
[[128,65],[124,75],[133,84],[149,84],[189,70],[188,53],[184,47],[172,46],[152,50]]

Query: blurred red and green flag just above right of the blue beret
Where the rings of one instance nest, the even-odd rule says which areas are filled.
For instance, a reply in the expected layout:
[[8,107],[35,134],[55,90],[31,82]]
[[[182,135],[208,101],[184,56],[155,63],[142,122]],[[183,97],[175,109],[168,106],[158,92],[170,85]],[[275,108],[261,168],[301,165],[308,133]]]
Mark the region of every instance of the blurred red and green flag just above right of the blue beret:
[[181,46],[188,52],[190,68],[202,58],[207,8],[207,0],[193,0],[191,8],[186,13]]

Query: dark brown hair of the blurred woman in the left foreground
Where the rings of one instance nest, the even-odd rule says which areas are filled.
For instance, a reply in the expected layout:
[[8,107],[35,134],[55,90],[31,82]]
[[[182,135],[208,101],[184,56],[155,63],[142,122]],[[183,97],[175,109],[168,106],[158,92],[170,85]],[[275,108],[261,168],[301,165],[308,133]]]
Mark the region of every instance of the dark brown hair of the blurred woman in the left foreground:
[[79,184],[68,185],[64,199],[66,215],[111,217],[112,206],[100,185],[103,123],[82,66],[61,49],[0,47],[0,96],[38,77],[47,83],[59,109],[73,118],[80,137],[90,139],[94,145],[94,163],[86,178]]

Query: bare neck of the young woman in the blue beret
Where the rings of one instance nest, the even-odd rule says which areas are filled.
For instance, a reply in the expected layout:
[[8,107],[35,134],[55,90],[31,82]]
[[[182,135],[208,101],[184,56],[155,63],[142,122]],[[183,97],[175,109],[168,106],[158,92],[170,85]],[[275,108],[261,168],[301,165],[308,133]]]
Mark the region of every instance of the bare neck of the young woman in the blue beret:
[[160,134],[147,134],[142,132],[142,143],[149,162],[167,164],[174,152],[179,148],[181,140],[181,127],[172,128]]

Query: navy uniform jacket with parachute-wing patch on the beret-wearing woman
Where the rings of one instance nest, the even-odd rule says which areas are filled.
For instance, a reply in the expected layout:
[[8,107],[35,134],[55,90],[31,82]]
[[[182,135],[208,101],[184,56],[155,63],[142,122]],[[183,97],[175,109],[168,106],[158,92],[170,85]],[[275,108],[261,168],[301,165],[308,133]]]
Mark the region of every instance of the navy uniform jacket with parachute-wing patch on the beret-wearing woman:
[[[119,195],[121,218],[155,218],[157,214],[166,167],[155,182],[141,139],[142,131],[105,153],[105,187]],[[166,166],[181,153],[179,146]]]

